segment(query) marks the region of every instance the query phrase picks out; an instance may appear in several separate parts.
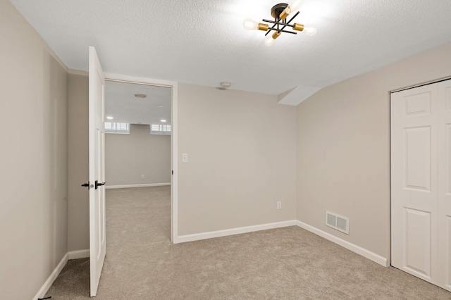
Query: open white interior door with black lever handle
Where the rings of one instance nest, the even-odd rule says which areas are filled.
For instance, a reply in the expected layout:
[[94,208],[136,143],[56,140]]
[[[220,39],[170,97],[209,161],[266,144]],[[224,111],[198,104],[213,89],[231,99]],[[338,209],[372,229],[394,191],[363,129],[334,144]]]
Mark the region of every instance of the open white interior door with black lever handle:
[[89,263],[91,296],[97,287],[106,254],[104,111],[105,78],[94,47],[89,47]]

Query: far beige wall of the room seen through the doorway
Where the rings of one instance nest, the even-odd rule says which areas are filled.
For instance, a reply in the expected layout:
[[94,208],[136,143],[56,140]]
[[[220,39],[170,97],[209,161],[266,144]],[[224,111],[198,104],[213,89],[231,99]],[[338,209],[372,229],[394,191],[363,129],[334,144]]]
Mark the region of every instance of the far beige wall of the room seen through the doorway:
[[106,134],[105,173],[107,186],[171,182],[171,135],[151,135],[149,125]]

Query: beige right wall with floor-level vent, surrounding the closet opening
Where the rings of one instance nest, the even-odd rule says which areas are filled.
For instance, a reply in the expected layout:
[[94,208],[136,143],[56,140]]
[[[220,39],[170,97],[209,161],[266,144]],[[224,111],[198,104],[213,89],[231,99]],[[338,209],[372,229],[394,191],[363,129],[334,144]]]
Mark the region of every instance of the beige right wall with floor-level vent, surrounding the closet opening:
[[[390,256],[389,91],[451,75],[451,44],[326,87],[297,107],[297,218]],[[326,227],[350,218],[350,235]]]

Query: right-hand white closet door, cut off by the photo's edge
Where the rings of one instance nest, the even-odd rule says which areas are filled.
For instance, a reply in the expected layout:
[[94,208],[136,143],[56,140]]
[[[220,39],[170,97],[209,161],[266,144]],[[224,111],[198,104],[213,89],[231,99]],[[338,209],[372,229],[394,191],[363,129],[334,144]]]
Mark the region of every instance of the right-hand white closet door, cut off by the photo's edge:
[[451,80],[438,84],[438,257],[440,287],[451,291]]

